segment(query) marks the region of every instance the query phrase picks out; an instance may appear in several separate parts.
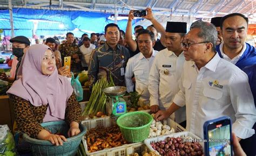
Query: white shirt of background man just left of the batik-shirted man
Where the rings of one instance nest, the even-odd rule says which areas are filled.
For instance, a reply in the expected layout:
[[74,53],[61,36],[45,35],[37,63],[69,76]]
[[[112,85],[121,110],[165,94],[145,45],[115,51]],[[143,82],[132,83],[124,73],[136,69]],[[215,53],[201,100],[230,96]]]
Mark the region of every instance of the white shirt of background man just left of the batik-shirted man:
[[87,67],[89,65],[90,56],[91,56],[93,49],[95,49],[95,47],[96,46],[93,44],[90,44],[89,48],[86,48],[84,45],[79,47],[80,52],[83,54],[83,58],[82,58],[82,66],[83,67]]

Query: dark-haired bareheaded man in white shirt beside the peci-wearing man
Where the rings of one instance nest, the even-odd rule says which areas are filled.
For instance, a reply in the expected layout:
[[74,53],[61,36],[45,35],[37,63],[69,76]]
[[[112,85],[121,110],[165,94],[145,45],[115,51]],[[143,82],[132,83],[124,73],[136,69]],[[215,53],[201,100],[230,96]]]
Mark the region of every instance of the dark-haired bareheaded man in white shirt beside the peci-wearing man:
[[134,75],[136,84],[135,90],[142,94],[144,100],[149,100],[149,72],[158,51],[154,51],[154,34],[148,30],[142,30],[138,33],[138,47],[140,53],[134,55],[127,62],[125,69],[125,83],[127,92],[133,91],[134,83],[132,76]]

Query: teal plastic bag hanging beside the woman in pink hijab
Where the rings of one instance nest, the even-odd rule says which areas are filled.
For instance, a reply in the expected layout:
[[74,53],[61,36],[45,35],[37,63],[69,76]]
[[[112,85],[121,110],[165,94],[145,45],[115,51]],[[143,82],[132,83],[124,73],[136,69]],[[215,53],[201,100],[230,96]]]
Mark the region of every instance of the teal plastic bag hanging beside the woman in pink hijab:
[[83,100],[83,88],[82,88],[82,85],[79,81],[79,76],[77,75],[76,79],[74,77],[74,74],[73,72],[71,72],[72,74],[72,77],[71,77],[71,86],[73,87],[74,89],[74,92],[75,92],[75,95],[77,97],[77,101],[82,101]]

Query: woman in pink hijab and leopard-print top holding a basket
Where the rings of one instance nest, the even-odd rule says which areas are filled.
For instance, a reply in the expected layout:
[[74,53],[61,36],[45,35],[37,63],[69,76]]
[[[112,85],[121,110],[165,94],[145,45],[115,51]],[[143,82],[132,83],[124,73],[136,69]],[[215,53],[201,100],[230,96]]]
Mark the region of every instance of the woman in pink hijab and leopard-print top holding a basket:
[[43,44],[29,47],[19,70],[22,77],[7,91],[14,101],[19,131],[30,137],[62,145],[64,136],[51,134],[40,123],[66,120],[69,137],[80,133],[81,108],[66,77],[58,75],[55,56]]

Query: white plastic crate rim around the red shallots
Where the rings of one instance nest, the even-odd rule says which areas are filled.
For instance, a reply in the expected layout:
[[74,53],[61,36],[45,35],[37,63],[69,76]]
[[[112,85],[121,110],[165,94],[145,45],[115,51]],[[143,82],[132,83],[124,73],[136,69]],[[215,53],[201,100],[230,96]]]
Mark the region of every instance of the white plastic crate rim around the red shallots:
[[[159,136],[159,137],[155,137],[155,138],[149,138],[149,139],[145,139],[144,140],[144,143],[146,144],[147,148],[149,148],[150,151],[156,151],[154,150],[154,148],[151,146],[151,143],[156,143],[157,141],[162,141],[164,140],[165,138],[167,137],[174,137],[174,138],[177,138],[177,137],[181,137],[181,138],[184,138],[184,137],[191,137],[193,139],[198,139],[198,140],[202,140],[200,139],[198,136],[196,136],[195,134],[191,133],[191,132],[179,132],[179,133],[172,133],[172,134],[169,134],[169,135],[166,135],[166,136]],[[199,144],[202,146],[203,150],[204,150],[204,143],[203,143],[203,140],[201,142],[199,142]],[[157,151],[156,151],[157,152]],[[157,152],[158,153],[158,152]],[[158,153],[159,154],[159,153]]]

